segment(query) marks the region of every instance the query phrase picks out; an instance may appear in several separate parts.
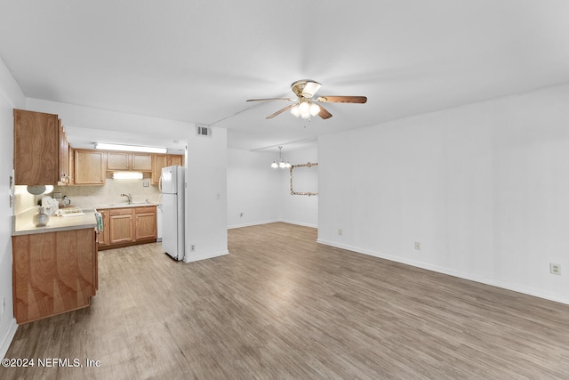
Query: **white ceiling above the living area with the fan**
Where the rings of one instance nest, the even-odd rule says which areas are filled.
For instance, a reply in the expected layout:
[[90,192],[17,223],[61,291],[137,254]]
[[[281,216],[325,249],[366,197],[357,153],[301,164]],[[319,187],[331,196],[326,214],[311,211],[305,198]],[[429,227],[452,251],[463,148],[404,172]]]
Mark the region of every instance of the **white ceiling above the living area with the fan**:
[[[569,2],[0,0],[0,57],[29,98],[216,125],[263,150],[569,82]],[[310,122],[245,102],[302,78],[368,102]]]

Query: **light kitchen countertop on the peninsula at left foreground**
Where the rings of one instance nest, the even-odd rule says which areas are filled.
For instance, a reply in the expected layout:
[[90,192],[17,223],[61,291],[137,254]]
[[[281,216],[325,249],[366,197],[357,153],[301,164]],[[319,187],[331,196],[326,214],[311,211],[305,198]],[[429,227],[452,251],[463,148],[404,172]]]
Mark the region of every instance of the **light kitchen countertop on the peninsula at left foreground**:
[[34,233],[56,232],[60,230],[81,230],[96,228],[95,210],[83,209],[83,214],[73,216],[50,215],[50,220],[44,227],[36,227],[33,222],[37,207],[30,208],[22,214],[13,216],[12,236],[29,235]]

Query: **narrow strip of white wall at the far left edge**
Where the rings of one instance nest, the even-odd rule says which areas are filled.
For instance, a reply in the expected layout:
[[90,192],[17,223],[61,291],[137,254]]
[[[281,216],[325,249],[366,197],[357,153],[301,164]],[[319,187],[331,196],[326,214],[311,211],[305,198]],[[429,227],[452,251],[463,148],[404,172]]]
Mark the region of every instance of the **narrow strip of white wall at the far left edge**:
[[[12,214],[8,199],[13,170],[13,109],[24,109],[26,99],[0,59],[0,358],[16,333],[12,300]],[[4,307],[3,307],[4,306]]]

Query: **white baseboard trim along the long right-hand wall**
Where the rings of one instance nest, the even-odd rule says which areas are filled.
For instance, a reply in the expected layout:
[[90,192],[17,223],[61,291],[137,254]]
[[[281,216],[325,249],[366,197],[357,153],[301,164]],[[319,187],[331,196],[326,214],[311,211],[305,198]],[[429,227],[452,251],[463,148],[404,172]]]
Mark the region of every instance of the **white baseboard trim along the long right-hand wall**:
[[381,259],[389,260],[395,263],[403,263],[405,265],[411,265],[413,267],[425,269],[427,271],[436,271],[437,273],[446,274],[453,277],[458,277],[459,279],[468,279],[470,281],[475,281],[481,284],[490,285],[492,287],[501,287],[503,289],[511,290],[513,292],[522,293],[524,295],[533,295],[534,297],[543,298],[545,300],[557,302],[557,303],[565,303],[569,304],[569,297],[563,297],[558,295],[550,295],[545,293],[539,289],[534,289],[532,287],[521,287],[518,284],[510,284],[507,282],[489,279],[487,277],[481,277],[472,275],[469,273],[464,273],[461,271],[454,271],[452,269],[448,269],[445,267],[440,267],[437,265],[432,265],[429,263],[421,263],[414,260],[405,259],[403,257],[393,256],[393,255],[385,255],[381,252],[371,251],[369,249],[363,249],[360,247],[353,247],[346,244],[337,243],[335,241],[329,241],[324,239],[317,239],[317,243],[324,244],[325,246],[336,247],[341,249],[346,249],[349,251],[356,252],[358,254],[370,255],[374,257],[379,257]]

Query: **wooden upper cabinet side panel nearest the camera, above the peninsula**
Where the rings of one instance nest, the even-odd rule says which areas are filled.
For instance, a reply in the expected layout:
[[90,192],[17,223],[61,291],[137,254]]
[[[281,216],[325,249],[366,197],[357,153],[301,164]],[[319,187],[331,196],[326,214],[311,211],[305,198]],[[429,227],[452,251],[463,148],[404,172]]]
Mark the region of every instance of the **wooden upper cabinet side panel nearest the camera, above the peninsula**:
[[57,185],[60,139],[57,115],[14,109],[14,181]]

